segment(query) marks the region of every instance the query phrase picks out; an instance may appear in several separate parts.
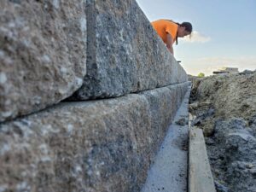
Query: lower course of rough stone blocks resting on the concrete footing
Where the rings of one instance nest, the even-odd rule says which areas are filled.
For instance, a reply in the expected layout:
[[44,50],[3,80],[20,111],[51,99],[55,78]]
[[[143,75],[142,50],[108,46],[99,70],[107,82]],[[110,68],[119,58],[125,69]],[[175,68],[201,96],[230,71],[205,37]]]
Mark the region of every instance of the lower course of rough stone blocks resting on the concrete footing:
[[0,125],[1,191],[140,191],[186,90],[62,102]]

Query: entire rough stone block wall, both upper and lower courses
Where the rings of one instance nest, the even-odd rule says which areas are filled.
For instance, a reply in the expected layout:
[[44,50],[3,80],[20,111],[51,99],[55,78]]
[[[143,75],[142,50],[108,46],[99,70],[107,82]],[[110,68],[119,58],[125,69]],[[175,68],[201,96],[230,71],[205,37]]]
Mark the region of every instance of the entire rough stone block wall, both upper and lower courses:
[[0,191],[139,191],[189,84],[136,1],[0,5]]

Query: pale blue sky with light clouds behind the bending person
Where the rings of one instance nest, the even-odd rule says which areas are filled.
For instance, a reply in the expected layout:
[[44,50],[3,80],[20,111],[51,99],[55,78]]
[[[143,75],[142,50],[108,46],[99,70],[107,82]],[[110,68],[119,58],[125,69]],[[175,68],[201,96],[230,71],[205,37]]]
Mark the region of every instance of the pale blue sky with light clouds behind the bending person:
[[148,20],[192,23],[195,35],[179,40],[174,55],[187,73],[220,67],[256,69],[256,0],[137,0]]

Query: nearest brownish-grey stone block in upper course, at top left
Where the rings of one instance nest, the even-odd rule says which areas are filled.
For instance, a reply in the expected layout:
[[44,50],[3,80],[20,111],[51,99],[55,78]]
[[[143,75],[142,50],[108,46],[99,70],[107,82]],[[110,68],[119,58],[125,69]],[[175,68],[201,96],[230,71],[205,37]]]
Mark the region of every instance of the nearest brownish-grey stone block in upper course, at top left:
[[84,0],[0,1],[0,122],[61,101],[86,67]]

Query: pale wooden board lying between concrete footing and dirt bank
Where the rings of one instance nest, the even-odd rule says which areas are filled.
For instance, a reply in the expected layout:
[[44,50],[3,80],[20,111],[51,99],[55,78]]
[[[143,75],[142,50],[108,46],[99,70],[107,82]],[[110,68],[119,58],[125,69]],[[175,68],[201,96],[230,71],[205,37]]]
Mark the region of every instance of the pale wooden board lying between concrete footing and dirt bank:
[[189,130],[189,192],[215,192],[201,129]]

